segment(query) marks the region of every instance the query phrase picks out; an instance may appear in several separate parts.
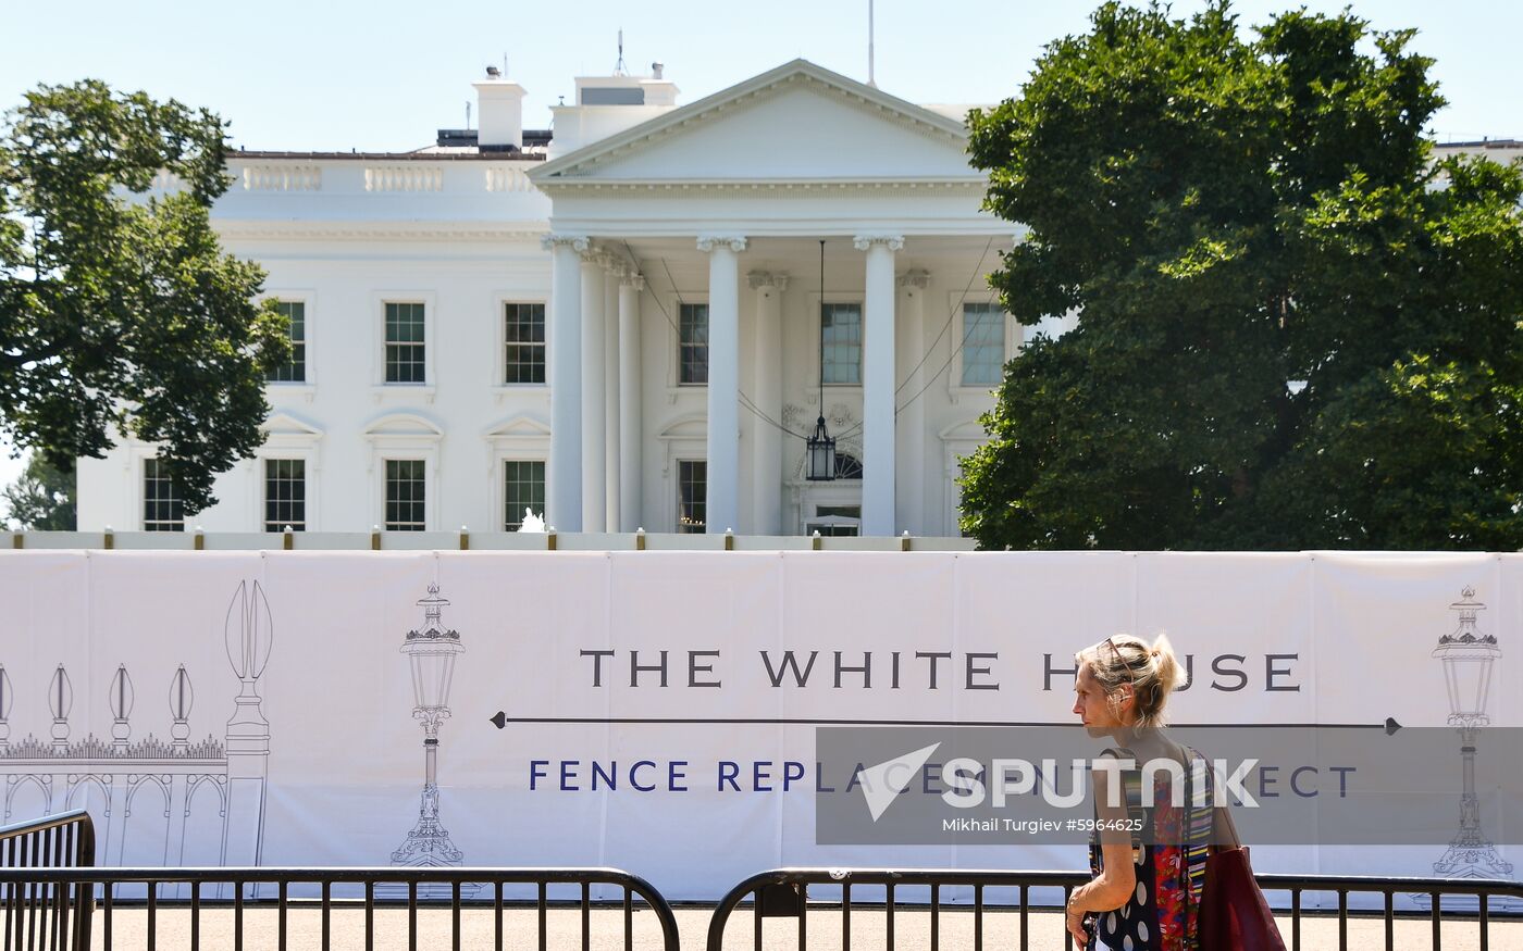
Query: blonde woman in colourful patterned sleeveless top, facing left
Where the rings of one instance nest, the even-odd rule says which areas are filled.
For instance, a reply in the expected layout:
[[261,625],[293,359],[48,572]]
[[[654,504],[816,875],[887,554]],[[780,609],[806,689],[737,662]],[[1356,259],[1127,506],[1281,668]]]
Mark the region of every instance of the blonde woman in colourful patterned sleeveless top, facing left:
[[[1168,695],[1183,671],[1168,638],[1153,644],[1115,635],[1074,656],[1074,712],[1090,736],[1110,736],[1115,747],[1103,756],[1180,764],[1186,776],[1200,753],[1170,739],[1164,729]],[[1112,799],[1115,776],[1122,794]],[[1154,773],[1156,805],[1142,806],[1141,768],[1094,774],[1095,817],[1100,831],[1090,840],[1094,878],[1074,890],[1068,902],[1068,930],[1087,951],[1180,951],[1199,946],[1200,889],[1206,857],[1217,840],[1237,844],[1226,809],[1214,809],[1211,771],[1203,770],[1205,797],[1174,805],[1168,771]],[[1110,805],[1115,802],[1115,805]],[[1141,826],[1138,829],[1136,826]],[[1130,828],[1130,831],[1129,831]],[[1156,843],[1156,844],[1145,844]]]

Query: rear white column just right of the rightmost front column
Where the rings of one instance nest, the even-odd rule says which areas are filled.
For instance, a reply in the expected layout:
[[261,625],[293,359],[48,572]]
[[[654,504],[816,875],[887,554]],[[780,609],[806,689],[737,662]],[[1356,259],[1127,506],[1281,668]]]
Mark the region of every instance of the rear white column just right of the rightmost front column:
[[[894,472],[897,496],[896,528],[911,534],[929,534],[926,528],[926,400],[915,399],[924,385],[928,367],[921,359],[926,350],[926,288],[931,272],[905,271],[899,275],[899,351],[896,364],[896,388],[903,385],[897,402],[899,411],[894,447],[899,464]],[[915,364],[920,364],[918,367]]]

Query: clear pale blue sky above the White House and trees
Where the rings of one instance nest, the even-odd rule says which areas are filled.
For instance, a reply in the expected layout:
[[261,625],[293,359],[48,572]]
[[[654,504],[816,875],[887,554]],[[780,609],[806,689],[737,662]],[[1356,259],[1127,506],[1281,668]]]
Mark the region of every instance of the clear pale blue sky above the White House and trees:
[[[876,79],[920,103],[991,103],[1014,94],[1042,46],[1086,29],[1095,3],[877,0]],[[1202,0],[1173,5],[1179,15]],[[1295,0],[1243,0],[1244,29]],[[1307,0],[1336,12],[1345,0]],[[1523,3],[1355,0],[1377,29],[1419,30],[1450,105],[1441,140],[1523,138]],[[631,73],[666,64],[693,102],[803,56],[867,79],[868,0],[53,0],[0,6],[0,108],[41,82],[104,79],[209,107],[236,145],[291,151],[402,151],[465,125],[487,64],[528,90],[524,123],[550,126],[573,76],[608,75],[624,30]],[[0,452],[0,484],[18,464]]]

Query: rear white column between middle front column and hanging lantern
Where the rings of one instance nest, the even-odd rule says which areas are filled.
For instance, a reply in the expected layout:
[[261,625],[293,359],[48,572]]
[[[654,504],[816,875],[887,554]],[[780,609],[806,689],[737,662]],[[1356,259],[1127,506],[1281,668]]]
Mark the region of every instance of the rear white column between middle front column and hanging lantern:
[[[757,295],[755,405],[774,420],[783,418],[783,292],[787,274],[752,271],[746,275]],[[760,536],[783,534],[783,431],[766,420],[755,421],[752,447],[754,531]]]

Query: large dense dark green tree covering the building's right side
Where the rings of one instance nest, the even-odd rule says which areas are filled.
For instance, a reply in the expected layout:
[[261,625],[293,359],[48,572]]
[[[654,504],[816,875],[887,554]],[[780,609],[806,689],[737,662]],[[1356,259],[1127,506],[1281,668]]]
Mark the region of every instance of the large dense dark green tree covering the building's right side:
[[970,116],[991,283],[1078,313],[966,460],[984,546],[1523,545],[1523,172],[1433,161],[1410,40],[1112,3]]

